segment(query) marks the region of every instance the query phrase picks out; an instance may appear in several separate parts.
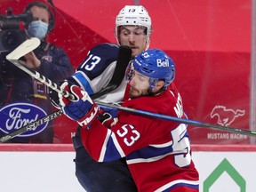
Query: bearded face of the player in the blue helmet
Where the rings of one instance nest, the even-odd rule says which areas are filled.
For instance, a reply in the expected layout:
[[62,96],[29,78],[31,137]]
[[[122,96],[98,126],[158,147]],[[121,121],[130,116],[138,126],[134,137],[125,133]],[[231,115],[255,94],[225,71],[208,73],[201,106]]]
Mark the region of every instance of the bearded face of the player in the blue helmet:
[[130,92],[129,92],[130,98],[137,98],[137,97],[148,95],[148,88],[149,88],[148,76],[143,76],[138,71],[134,70],[129,84],[131,85]]

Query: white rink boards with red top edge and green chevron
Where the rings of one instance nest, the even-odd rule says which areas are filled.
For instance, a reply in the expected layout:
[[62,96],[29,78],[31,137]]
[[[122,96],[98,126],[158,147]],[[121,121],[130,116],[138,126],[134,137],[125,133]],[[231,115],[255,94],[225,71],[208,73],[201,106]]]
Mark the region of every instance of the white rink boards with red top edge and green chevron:
[[[193,145],[200,192],[255,190],[256,147]],[[1,191],[83,192],[75,176],[71,144],[0,145]]]

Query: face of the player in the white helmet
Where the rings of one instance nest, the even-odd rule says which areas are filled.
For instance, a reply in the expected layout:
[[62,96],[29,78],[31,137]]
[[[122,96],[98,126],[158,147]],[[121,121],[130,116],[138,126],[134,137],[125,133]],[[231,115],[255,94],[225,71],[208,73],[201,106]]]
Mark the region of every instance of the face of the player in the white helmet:
[[140,26],[123,26],[119,34],[119,43],[132,48],[132,58],[143,52],[147,45],[145,28]]

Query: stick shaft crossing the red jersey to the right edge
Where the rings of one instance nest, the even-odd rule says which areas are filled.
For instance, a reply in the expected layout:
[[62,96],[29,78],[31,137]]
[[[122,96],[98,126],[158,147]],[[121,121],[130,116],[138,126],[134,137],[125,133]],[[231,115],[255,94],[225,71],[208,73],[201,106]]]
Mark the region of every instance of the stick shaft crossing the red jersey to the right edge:
[[253,132],[250,130],[238,129],[235,127],[221,126],[218,124],[207,124],[207,123],[202,123],[202,122],[194,121],[194,120],[190,120],[190,119],[182,119],[182,118],[175,117],[175,116],[165,116],[163,114],[156,114],[156,113],[148,112],[145,110],[139,110],[139,109],[135,109],[135,108],[126,108],[126,107],[122,107],[119,105],[103,103],[100,101],[97,101],[96,103],[101,107],[103,106],[105,108],[106,107],[107,108],[117,108],[119,110],[125,111],[127,113],[132,113],[135,115],[148,116],[148,117],[163,119],[163,120],[172,121],[172,122],[176,122],[176,123],[180,123],[180,124],[190,124],[190,125],[196,125],[196,126],[200,126],[200,127],[208,127],[208,128],[216,129],[216,130],[220,130],[220,131],[235,132],[238,134],[244,134],[244,135],[256,137],[256,132]]

